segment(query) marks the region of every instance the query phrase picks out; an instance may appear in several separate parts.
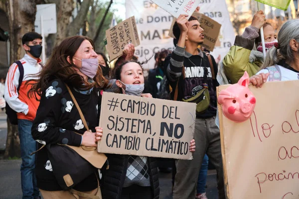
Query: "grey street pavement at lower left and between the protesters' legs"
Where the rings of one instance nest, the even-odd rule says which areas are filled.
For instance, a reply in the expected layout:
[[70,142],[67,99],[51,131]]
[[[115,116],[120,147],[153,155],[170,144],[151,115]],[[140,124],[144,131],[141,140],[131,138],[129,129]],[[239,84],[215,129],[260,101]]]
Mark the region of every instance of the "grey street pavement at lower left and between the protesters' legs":
[[[6,143],[6,115],[0,110],[0,156],[3,156]],[[1,159],[1,157],[0,157]],[[0,199],[21,199],[20,181],[21,160],[0,160]],[[171,173],[159,172],[160,199],[172,199]],[[218,199],[215,170],[208,171],[208,199]]]

